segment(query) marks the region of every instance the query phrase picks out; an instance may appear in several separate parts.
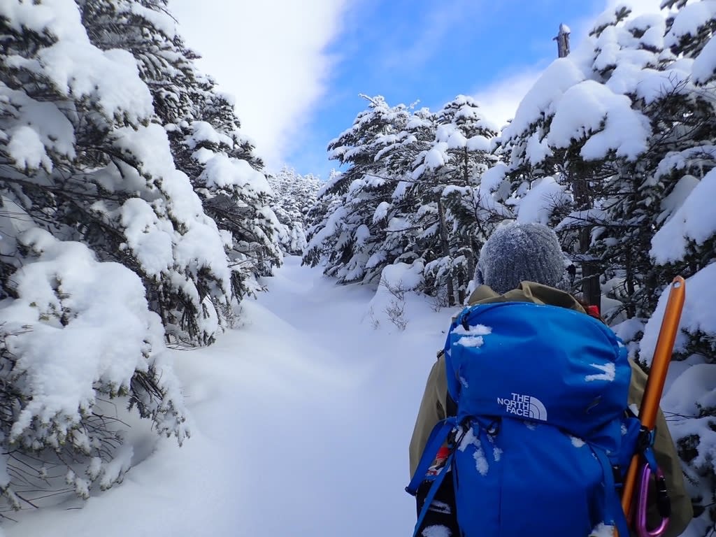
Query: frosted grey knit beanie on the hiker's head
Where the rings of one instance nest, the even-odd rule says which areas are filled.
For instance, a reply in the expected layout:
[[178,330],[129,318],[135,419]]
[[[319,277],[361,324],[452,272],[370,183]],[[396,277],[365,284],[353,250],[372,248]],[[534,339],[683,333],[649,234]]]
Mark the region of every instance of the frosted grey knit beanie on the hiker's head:
[[480,251],[475,283],[498,294],[517,289],[521,281],[560,286],[564,254],[551,228],[538,223],[511,223],[495,230]]

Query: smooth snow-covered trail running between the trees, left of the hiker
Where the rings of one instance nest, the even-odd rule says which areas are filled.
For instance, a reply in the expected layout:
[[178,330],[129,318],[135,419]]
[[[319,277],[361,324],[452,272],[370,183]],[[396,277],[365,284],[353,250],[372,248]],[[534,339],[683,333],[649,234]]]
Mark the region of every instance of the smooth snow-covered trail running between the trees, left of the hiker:
[[450,312],[410,299],[404,332],[374,329],[371,289],[335,286],[299,258],[266,284],[244,326],[175,352],[193,418],[182,448],[160,439],[122,485],[81,509],[20,513],[6,535],[408,533],[407,442]]

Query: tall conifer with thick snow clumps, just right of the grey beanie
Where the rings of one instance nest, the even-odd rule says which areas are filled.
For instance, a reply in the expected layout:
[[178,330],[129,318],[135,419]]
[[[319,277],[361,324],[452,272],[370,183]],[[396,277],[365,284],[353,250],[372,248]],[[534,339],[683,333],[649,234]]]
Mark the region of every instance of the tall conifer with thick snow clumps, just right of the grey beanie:
[[546,69],[503,132],[520,218],[547,208],[541,218],[561,221],[566,250],[589,261],[578,263],[582,275],[606,274],[627,314],[648,294],[648,267],[640,263],[648,260],[649,223],[645,203],[634,203],[642,203],[652,151],[666,147],[652,112],[669,110],[669,97],[678,97],[659,91],[673,85],[662,72],[669,63],[663,26],[658,14],[607,12],[590,40]]

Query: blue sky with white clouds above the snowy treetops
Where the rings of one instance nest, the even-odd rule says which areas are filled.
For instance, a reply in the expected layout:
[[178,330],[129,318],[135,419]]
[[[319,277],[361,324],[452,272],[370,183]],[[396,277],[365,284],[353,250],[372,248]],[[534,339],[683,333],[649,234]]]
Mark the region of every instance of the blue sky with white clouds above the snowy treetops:
[[[637,10],[658,0],[628,0]],[[502,123],[556,57],[615,0],[170,0],[200,67],[236,97],[243,131],[266,160],[327,178],[326,145],[367,102],[438,110],[472,95]],[[200,6],[198,5],[200,4]]]

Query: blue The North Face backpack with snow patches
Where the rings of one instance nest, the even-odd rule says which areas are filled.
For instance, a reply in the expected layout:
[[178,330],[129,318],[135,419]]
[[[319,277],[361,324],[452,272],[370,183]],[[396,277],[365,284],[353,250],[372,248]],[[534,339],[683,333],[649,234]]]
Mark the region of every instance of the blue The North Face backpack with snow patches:
[[[631,369],[609,327],[557,306],[478,304],[450,326],[445,364],[457,415],[432,431],[406,489],[433,481],[415,533],[452,475],[464,537],[629,535],[618,485],[639,421],[625,412]],[[445,466],[427,472],[445,443]]]

